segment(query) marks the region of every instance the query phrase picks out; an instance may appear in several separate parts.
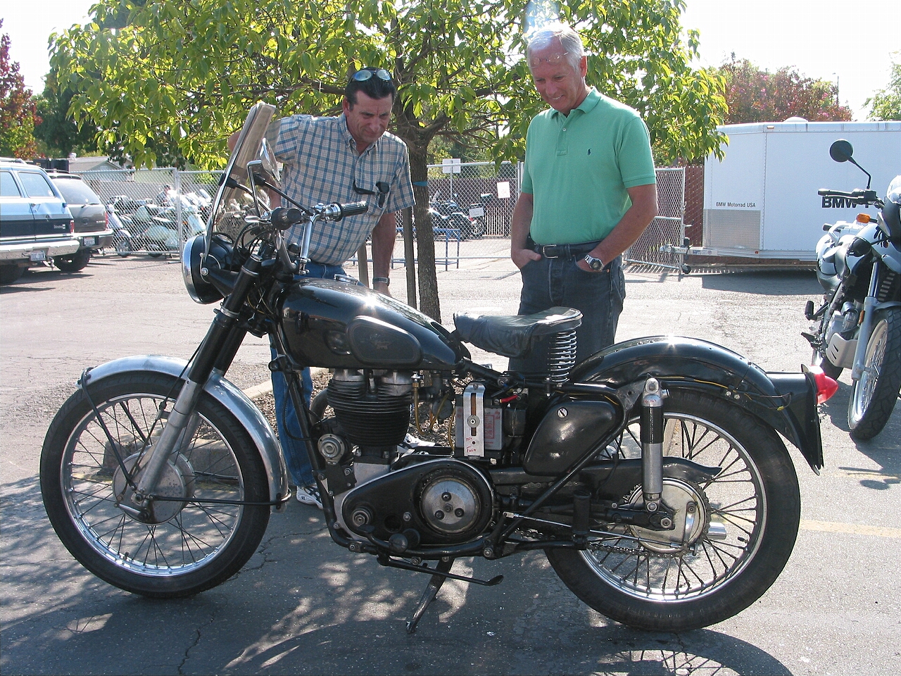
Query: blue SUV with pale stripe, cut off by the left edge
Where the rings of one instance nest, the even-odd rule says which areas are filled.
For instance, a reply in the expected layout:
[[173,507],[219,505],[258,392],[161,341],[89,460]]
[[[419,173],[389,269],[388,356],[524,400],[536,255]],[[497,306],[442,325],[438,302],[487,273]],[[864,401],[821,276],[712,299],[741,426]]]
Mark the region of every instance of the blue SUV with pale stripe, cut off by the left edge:
[[75,221],[47,173],[23,160],[0,160],[0,284],[25,269],[78,251]]

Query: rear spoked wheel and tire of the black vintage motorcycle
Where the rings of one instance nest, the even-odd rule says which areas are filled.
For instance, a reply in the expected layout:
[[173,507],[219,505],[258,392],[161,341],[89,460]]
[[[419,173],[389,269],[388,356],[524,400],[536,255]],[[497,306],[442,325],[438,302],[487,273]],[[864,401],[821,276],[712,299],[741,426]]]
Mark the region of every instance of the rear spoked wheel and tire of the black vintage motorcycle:
[[[665,476],[662,501],[676,512],[675,531],[595,521],[585,551],[545,553],[599,613],[673,632],[721,622],[769,589],[795,545],[801,498],[785,444],[758,418],[696,392],[670,390],[663,406],[664,455],[723,468],[700,484]],[[618,444],[622,458],[641,457],[633,414]],[[643,506],[642,487],[622,500]]]

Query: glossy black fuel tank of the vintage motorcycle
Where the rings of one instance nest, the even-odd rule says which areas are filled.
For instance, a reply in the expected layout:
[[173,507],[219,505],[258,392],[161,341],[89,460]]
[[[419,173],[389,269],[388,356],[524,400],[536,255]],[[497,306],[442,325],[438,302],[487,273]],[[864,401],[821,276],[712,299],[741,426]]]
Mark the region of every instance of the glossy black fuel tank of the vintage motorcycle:
[[301,279],[279,302],[278,328],[297,366],[451,370],[469,357],[431,317],[366,287]]

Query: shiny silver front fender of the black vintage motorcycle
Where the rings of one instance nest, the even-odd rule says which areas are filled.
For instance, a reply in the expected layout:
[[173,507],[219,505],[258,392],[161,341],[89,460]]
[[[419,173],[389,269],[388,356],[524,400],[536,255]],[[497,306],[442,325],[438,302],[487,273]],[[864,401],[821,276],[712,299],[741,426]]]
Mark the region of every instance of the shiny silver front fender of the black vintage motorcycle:
[[[132,357],[122,357],[91,369],[91,381],[118,376],[123,373],[136,371],[151,371],[164,373],[175,378],[184,379],[187,361],[175,357],[165,357],[159,354],[138,354]],[[273,502],[281,501],[276,511],[285,508],[285,496],[288,492],[287,467],[282,456],[281,447],[268,420],[259,412],[259,408],[231,381],[213,373],[206,382],[204,391],[216,401],[228,408],[238,423],[250,434],[256,446],[263,466],[266,468],[266,476],[269,484],[269,499]]]

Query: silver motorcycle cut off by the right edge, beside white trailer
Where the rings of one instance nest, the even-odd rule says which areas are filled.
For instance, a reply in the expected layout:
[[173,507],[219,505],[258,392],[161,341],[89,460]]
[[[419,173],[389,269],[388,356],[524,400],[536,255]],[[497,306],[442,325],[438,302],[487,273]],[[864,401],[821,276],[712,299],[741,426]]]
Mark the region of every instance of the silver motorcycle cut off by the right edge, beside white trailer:
[[[814,348],[813,363],[838,379],[851,369],[848,426],[855,439],[871,439],[885,427],[901,388],[901,176],[885,199],[869,188],[866,169],[851,157],[851,143],[833,142],[829,154],[867,174],[867,187],[851,192],[821,188],[824,206],[875,206],[878,215],[860,214],[851,223],[824,224],[816,245],[816,276],[824,288],[822,305],[808,300],[803,332]],[[827,204],[827,201],[829,204]]]

